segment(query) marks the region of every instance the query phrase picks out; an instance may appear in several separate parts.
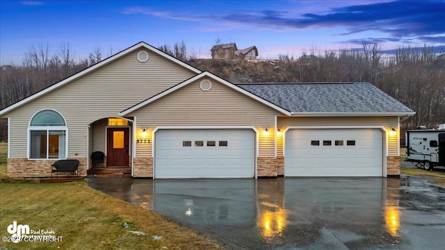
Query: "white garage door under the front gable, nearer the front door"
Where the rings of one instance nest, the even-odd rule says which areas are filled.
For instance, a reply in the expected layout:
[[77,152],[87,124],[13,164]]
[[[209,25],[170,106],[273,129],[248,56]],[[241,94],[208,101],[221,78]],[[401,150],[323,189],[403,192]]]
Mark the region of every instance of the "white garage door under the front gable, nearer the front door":
[[154,178],[253,178],[252,129],[161,129]]

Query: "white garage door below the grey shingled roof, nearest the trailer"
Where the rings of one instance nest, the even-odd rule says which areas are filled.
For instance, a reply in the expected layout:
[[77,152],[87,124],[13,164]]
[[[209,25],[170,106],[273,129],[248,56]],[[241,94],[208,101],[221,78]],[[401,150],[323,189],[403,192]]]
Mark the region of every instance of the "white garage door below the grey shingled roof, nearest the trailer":
[[382,176],[379,129],[290,129],[284,176]]

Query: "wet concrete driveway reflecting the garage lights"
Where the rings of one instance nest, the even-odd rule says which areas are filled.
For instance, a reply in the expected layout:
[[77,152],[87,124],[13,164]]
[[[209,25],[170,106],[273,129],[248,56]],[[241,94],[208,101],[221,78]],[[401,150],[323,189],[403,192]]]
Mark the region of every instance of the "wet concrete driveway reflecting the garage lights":
[[88,181],[234,249],[445,246],[445,189],[421,177]]

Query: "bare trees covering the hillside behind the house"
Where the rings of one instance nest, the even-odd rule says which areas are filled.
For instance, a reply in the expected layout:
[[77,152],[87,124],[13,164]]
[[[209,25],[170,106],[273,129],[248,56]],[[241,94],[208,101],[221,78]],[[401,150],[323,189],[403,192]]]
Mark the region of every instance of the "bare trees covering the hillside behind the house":
[[[434,47],[399,47],[388,55],[379,44],[364,43],[361,49],[313,49],[295,58],[280,54],[277,60],[257,61],[200,59],[184,41],[159,49],[233,83],[369,82],[416,112],[405,128],[445,123],[445,54],[437,55]],[[99,63],[103,55],[95,47],[76,60],[70,44],[61,44],[55,53],[48,44],[32,45],[22,65],[1,67],[0,109]],[[0,141],[6,140],[6,131],[6,120],[0,119]]]

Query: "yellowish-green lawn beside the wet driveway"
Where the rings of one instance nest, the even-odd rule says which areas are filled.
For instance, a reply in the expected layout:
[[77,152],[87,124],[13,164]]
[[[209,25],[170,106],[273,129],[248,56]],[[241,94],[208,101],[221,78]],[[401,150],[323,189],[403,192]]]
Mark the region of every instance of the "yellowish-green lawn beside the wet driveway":
[[[2,166],[3,168],[3,166]],[[0,183],[0,234],[13,221],[61,242],[0,242],[0,249],[223,249],[146,208],[74,183]]]

